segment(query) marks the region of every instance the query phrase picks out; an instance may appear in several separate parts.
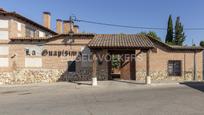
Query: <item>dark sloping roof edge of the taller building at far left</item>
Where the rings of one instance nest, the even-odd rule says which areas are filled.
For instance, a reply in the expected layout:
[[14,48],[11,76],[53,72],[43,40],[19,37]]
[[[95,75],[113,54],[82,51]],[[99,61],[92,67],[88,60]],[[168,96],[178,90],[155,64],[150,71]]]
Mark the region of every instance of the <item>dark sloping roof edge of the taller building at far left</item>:
[[28,18],[26,18],[26,17],[24,17],[24,16],[22,16],[22,15],[16,13],[16,12],[7,12],[4,9],[0,8],[0,15],[13,16],[13,17],[19,18],[21,20],[27,21],[28,23],[33,24],[33,25],[35,25],[35,26],[37,26],[37,27],[39,27],[39,28],[41,28],[41,29],[43,29],[43,30],[45,30],[47,32],[50,32],[50,33],[52,33],[54,35],[57,34],[56,32],[52,31],[51,29],[48,29],[48,28],[44,27],[43,25],[38,24],[38,23],[32,21],[31,19],[28,19]]

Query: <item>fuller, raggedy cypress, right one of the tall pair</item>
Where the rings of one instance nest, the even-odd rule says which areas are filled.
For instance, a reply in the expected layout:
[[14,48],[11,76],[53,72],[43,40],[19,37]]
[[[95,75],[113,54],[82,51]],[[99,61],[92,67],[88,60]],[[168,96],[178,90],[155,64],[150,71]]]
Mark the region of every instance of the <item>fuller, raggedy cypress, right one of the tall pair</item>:
[[185,41],[185,33],[183,32],[183,25],[180,22],[180,17],[176,18],[174,45],[183,45]]

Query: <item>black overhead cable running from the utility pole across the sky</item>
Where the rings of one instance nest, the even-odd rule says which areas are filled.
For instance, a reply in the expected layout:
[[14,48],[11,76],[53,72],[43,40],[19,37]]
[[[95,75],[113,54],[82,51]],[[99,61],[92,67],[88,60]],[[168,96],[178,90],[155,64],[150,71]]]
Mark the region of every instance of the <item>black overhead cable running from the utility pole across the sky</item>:
[[[159,27],[129,26],[129,25],[120,25],[120,24],[103,23],[103,22],[96,22],[96,21],[89,21],[89,20],[81,20],[81,19],[77,19],[76,17],[74,18],[74,21],[84,22],[84,23],[89,23],[89,24],[112,26],[112,27],[130,28],[130,29],[167,30],[166,28],[159,28]],[[184,30],[203,31],[204,28],[184,28]]]

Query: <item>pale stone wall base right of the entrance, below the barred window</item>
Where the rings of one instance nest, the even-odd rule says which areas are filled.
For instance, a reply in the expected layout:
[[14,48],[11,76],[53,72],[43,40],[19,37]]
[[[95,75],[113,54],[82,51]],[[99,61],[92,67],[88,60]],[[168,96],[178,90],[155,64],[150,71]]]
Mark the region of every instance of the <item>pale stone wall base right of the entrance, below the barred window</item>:
[[[183,72],[182,76],[168,76],[168,72],[159,71],[159,72],[150,72],[151,79],[154,81],[160,80],[173,80],[173,81],[192,81],[194,80],[193,72]],[[202,80],[202,72],[197,72],[198,80]],[[136,80],[144,81],[146,77],[146,71],[137,71]]]

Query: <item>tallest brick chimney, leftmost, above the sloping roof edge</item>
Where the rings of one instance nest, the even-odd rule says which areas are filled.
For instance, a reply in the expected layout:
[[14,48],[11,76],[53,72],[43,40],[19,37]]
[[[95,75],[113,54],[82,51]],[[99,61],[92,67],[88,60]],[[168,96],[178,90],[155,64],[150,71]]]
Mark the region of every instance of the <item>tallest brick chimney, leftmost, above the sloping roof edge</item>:
[[50,12],[43,12],[43,25],[44,27],[51,28],[51,14]]

